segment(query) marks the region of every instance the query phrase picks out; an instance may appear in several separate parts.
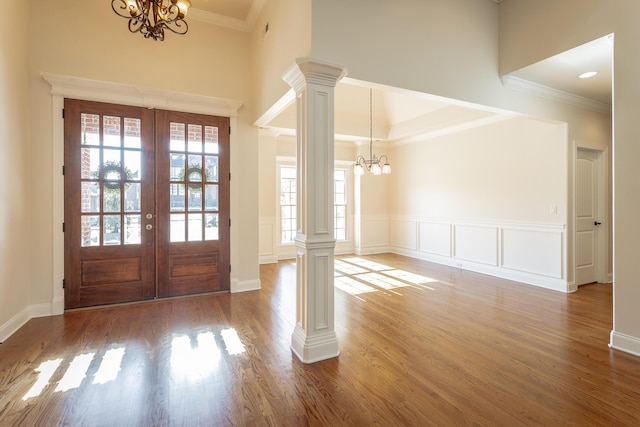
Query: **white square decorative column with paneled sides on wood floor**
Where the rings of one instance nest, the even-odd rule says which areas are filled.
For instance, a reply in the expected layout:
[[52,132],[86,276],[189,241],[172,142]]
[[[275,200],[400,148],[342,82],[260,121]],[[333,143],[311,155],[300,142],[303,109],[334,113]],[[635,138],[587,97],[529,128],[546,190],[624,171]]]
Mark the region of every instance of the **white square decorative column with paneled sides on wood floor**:
[[337,64],[298,58],[283,79],[296,92],[296,326],[291,350],[303,363],[338,356],[334,319],[334,88]]

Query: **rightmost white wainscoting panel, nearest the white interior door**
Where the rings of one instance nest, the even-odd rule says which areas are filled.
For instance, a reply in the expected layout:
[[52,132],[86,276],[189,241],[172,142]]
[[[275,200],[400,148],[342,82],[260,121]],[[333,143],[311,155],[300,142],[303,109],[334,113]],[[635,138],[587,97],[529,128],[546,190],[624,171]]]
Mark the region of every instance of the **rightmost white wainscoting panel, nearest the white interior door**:
[[502,229],[502,266],[562,278],[562,230]]

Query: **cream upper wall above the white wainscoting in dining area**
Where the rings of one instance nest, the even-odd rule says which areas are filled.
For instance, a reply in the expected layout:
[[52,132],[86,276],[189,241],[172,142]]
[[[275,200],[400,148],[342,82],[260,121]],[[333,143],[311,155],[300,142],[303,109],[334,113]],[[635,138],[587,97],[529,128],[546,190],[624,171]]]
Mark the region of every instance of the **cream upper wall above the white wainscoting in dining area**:
[[511,119],[400,145],[394,162],[395,215],[564,224],[563,125]]

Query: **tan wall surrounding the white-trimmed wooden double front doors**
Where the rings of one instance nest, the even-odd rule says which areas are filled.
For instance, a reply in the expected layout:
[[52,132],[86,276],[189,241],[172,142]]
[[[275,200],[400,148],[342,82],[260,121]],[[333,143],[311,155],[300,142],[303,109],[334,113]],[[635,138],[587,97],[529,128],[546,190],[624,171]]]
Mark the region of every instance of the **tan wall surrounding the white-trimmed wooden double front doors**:
[[[238,100],[243,103],[233,129],[232,224],[237,241],[232,244],[232,278],[258,280],[258,155],[257,130],[250,124],[249,33],[225,30],[190,20],[185,36],[167,34],[154,42],[127,30],[109,4],[66,1],[57,4],[34,0],[29,29],[33,40],[30,57],[32,162],[43,179],[34,180],[34,231],[31,257],[39,266],[31,282],[31,304],[52,298],[52,97],[42,72],[75,76],[146,88]],[[233,154],[235,153],[235,154]],[[241,195],[241,196],[238,196]],[[234,230],[232,230],[234,233]],[[237,257],[234,259],[233,254]]]

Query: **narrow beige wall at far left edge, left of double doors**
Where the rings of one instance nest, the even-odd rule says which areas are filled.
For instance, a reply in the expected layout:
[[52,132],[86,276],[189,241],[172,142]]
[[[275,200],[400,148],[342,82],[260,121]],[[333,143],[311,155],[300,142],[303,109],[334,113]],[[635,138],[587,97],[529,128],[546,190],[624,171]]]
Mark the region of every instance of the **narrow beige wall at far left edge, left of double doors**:
[[0,342],[28,319],[34,260],[30,185],[42,171],[29,159],[28,2],[4,5],[0,25]]

